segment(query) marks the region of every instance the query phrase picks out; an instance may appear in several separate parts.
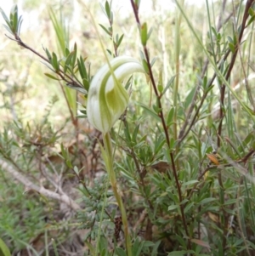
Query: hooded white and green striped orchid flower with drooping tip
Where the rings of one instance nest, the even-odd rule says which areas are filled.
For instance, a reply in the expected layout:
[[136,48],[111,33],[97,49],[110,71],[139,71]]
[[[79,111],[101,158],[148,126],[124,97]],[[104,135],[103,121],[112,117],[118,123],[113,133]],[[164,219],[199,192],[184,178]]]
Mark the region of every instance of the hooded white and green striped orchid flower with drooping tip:
[[[111,67],[110,67],[111,66]],[[129,96],[122,80],[133,72],[144,72],[144,67],[132,57],[119,56],[103,65],[94,75],[88,90],[88,122],[103,134],[127,108]]]

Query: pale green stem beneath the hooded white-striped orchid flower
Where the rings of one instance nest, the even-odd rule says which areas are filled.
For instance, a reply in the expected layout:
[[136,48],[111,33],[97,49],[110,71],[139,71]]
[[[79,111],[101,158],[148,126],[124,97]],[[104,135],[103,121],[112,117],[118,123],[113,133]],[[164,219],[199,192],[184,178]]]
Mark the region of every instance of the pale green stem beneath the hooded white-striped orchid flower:
[[110,178],[112,191],[114,193],[114,196],[116,197],[116,202],[117,202],[117,204],[121,210],[121,213],[122,213],[122,223],[123,223],[123,227],[124,227],[125,242],[126,242],[126,247],[127,247],[127,256],[132,256],[131,240],[130,240],[130,236],[128,234],[127,213],[126,213],[126,210],[125,210],[123,202],[122,202],[122,196],[120,196],[118,189],[117,189],[116,174],[113,169],[114,157],[113,157],[110,133],[103,134],[103,140],[104,140],[104,145],[105,145],[105,154],[107,156],[107,161],[105,161],[105,167],[106,167],[107,173]]

